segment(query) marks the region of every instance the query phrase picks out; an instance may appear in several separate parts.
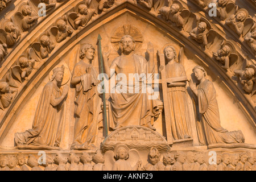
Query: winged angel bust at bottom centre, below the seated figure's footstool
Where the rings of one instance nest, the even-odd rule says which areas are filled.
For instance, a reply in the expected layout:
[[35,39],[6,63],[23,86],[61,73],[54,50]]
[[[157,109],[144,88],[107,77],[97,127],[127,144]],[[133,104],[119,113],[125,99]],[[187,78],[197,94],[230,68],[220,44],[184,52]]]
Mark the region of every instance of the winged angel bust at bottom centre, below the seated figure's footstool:
[[107,171],[141,171],[141,165],[137,150],[129,150],[126,145],[120,144],[115,147],[114,152],[112,150],[105,152]]

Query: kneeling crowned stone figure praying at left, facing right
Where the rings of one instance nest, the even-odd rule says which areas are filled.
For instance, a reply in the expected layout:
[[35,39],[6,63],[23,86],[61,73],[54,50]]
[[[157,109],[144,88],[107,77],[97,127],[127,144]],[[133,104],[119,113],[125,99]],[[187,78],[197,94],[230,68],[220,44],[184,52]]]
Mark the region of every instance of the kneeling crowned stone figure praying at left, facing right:
[[24,149],[30,146],[59,148],[63,137],[64,102],[69,90],[68,85],[64,86],[63,91],[60,90],[64,69],[64,67],[53,69],[52,78],[44,86],[39,99],[32,129],[24,133],[16,133],[16,145]]

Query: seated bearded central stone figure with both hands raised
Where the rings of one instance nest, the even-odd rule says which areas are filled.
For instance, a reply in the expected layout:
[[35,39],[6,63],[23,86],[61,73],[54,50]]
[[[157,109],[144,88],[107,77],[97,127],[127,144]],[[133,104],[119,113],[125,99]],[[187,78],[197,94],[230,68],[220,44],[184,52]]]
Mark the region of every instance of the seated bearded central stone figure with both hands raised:
[[[154,47],[152,43],[148,43],[149,60],[147,61],[144,57],[135,53],[136,42],[133,36],[124,35],[119,42],[121,56],[114,59],[110,67],[108,65],[109,48],[105,47],[102,52],[105,72],[109,78],[115,73],[122,73],[126,76],[126,79],[129,78],[129,74],[145,74],[145,76],[148,73],[154,74]],[[152,80],[152,77],[137,78],[136,81],[140,82],[142,79]],[[117,89],[122,85],[123,89],[126,89],[125,93],[110,94],[110,128],[117,130],[124,126],[139,125],[155,130],[152,125],[154,125],[155,118],[160,114],[156,100],[148,100],[148,93],[142,94],[142,86],[139,86],[139,93],[129,93],[129,90],[133,90],[135,85],[127,85],[127,82],[129,80],[119,81],[115,85]],[[135,100],[135,98],[137,99]],[[147,107],[142,109],[142,106]],[[138,115],[141,115],[141,117],[137,117]]]

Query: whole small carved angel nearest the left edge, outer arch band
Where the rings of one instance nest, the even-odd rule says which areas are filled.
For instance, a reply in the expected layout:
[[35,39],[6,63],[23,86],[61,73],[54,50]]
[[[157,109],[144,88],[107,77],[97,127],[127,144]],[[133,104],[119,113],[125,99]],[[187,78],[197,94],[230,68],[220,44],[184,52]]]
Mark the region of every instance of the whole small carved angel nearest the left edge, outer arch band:
[[20,39],[20,30],[9,19],[3,20],[0,28],[0,41],[8,47],[13,46]]

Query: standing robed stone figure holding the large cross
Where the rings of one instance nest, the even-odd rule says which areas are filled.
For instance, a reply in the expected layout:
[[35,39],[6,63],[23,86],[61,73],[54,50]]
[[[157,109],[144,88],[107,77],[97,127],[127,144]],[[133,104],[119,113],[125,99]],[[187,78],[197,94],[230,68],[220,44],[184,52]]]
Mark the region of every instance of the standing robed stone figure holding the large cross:
[[[183,60],[183,49],[181,48],[178,56],[176,50],[172,46],[164,48],[164,55],[167,60],[166,77],[168,90],[168,107],[170,107],[170,122],[172,137],[175,140],[191,138],[191,132],[188,130],[189,111],[186,99],[187,75],[185,73]],[[160,71],[164,69],[164,65],[160,66]],[[183,117],[178,117],[183,115]]]

